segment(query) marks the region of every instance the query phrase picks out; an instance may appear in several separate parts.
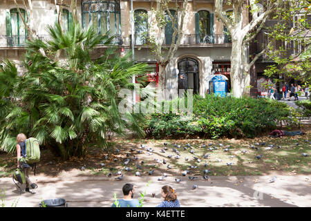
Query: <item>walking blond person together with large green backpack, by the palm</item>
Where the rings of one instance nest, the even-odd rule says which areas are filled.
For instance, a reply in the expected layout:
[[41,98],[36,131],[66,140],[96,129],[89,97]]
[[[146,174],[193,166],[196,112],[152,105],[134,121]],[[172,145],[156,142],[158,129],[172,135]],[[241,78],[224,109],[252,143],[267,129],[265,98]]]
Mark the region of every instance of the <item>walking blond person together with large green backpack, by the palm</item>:
[[17,135],[17,168],[21,169],[26,181],[26,192],[34,193],[31,189],[37,189],[37,184],[32,183],[29,179],[30,168],[35,167],[39,161],[40,151],[39,142],[35,138],[27,139],[26,135],[19,133]]

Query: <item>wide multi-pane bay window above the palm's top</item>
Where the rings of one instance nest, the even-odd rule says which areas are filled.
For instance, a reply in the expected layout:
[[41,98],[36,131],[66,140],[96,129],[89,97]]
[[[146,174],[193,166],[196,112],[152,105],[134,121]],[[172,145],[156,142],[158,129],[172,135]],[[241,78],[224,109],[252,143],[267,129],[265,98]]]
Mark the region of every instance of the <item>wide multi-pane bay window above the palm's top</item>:
[[119,1],[82,1],[82,26],[93,25],[99,34],[110,31],[111,35],[121,35]]

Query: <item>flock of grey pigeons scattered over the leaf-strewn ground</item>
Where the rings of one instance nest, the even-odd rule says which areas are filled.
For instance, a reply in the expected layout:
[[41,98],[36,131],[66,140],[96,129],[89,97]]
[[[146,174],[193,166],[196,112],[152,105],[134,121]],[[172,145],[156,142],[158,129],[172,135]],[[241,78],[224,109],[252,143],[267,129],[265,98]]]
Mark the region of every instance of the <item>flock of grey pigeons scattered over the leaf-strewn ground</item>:
[[[305,140],[305,142],[308,142],[308,140]],[[214,150],[217,150],[218,148],[217,148],[217,146],[213,146],[214,144],[209,144],[208,146],[207,145],[205,145],[205,144],[202,144],[202,146],[200,146],[200,148],[206,148],[206,149],[208,149],[209,151],[214,151]],[[299,144],[296,144],[296,146],[298,146]],[[211,146],[213,146],[213,147],[211,147]],[[220,148],[224,148],[223,149],[223,151],[225,151],[225,152],[229,152],[230,151],[230,149],[229,149],[229,147],[230,146],[224,146],[223,144],[218,144],[218,146],[220,147]],[[250,146],[249,146],[249,148],[251,148],[251,149],[254,149],[254,150],[256,150],[256,151],[258,151],[260,148],[259,148],[259,146],[266,146],[265,145],[265,142],[263,142],[263,143],[255,143],[255,145],[252,145],[252,144],[250,144]],[[281,146],[276,146],[276,145],[274,145],[274,144],[269,144],[269,145],[267,145],[267,147],[265,147],[265,150],[267,150],[267,151],[270,151],[270,150],[272,150],[272,148],[281,148]],[[189,149],[189,153],[191,153],[192,155],[193,155],[193,160],[195,160],[196,162],[201,162],[201,160],[199,159],[199,157],[196,157],[196,155],[194,155],[194,148],[190,145],[190,144],[186,144],[185,146],[181,146],[181,145],[178,145],[178,144],[173,144],[173,146],[171,147],[171,150],[174,152],[174,153],[176,153],[176,155],[174,156],[174,155],[167,155],[167,157],[169,157],[170,159],[176,159],[176,160],[178,160],[178,159],[180,159],[180,157],[181,157],[181,154],[180,154],[180,151],[182,151],[182,150],[184,150],[184,151],[187,151]],[[140,150],[135,150],[135,148],[131,148],[130,149],[130,151],[132,152],[132,153],[143,153],[143,150],[144,151],[147,151],[147,154],[149,154],[149,155],[152,155],[153,154],[153,149],[152,148],[149,148],[148,146],[146,146],[146,145],[144,145],[144,144],[140,144]],[[167,143],[164,143],[164,146],[163,146],[163,148],[160,150],[160,152],[161,153],[166,153],[167,151],[169,150],[169,147],[168,147],[168,144]],[[178,151],[178,150],[180,150],[180,151]],[[116,152],[117,153],[120,153],[120,149],[118,149],[117,148],[117,150],[116,150]],[[243,151],[241,151],[241,153],[247,153],[247,151],[245,151],[245,150],[243,150]],[[306,154],[306,153],[303,153],[302,154],[304,157],[308,157],[308,155]],[[203,155],[202,156],[202,158],[203,159],[207,159],[208,157],[209,157],[210,155],[209,154],[205,154],[205,155]],[[231,157],[234,157],[234,156],[231,156]],[[262,157],[263,157],[263,155],[261,154],[261,155],[256,155],[254,158],[256,159],[256,160],[261,160],[262,159]],[[107,160],[108,159],[108,155],[106,155],[105,156],[105,159]],[[137,161],[138,160],[138,157],[137,156],[133,156],[133,161]],[[163,160],[159,160],[159,159],[154,159],[155,160],[155,162],[157,162],[158,164],[167,164],[167,170],[169,170],[169,169],[172,169],[172,166],[171,166],[171,164],[168,164],[167,163],[167,160],[165,160],[165,159],[163,159]],[[186,161],[188,161],[189,160],[189,157],[185,157],[185,160]],[[216,160],[218,161],[218,162],[222,162],[222,160],[220,160],[220,159],[218,159],[217,157],[216,157]],[[114,159],[114,161],[117,161],[117,159]],[[126,161],[124,162],[124,166],[125,166],[125,168],[124,168],[124,170],[125,171],[131,171],[132,169],[131,168],[129,168],[129,167],[127,167],[127,165],[129,164],[129,162],[131,162],[131,158],[130,158],[130,155],[129,155],[129,153],[127,153],[126,154]],[[144,164],[144,162],[142,161],[142,162],[136,162],[136,168],[138,169],[138,170],[141,170],[142,169],[142,164]],[[232,162],[227,162],[226,163],[227,164],[227,166],[232,166],[233,165],[233,163]],[[103,163],[101,163],[100,164],[101,166],[105,166],[105,164],[103,164]],[[156,166],[156,164],[153,164],[152,165],[153,167],[154,166]],[[205,164],[204,164],[204,166],[205,167],[207,167],[208,166],[208,164],[205,162]],[[189,169],[196,169],[198,166],[189,166]],[[111,169],[111,171],[113,171],[113,169]],[[153,169],[151,169],[151,171],[149,171],[149,175],[153,175],[153,173],[154,173],[154,170]],[[189,174],[190,173],[190,171],[189,170],[185,170],[185,171],[182,171],[182,177],[185,177],[185,176],[187,176],[187,174]],[[209,173],[211,173],[211,171],[209,171],[208,169],[205,169],[204,171],[202,171],[202,178],[204,179],[204,180],[209,180]],[[109,173],[108,174],[108,177],[111,177],[113,174],[112,173]],[[116,173],[116,175],[117,175],[117,177],[115,178],[115,180],[123,180],[123,174],[122,174],[122,170],[121,171],[118,171],[117,173]],[[137,172],[135,172],[135,175],[136,176],[141,176],[141,173],[139,172],[139,171],[137,171]],[[167,173],[162,173],[162,175],[160,176],[160,177],[158,177],[158,181],[162,181],[162,180],[164,180],[166,177],[168,176],[168,174]],[[196,177],[196,176],[191,176],[191,175],[188,175],[188,177],[189,177],[189,181],[194,181],[194,180],[196,180],[196,179],[198,179],[198,177]],[[272,178],[272,180],[270,180],[270,182],[275,182],[275,180],[276,180],[276,177],[274,177],[274,178]],[[175,181],[176,181],[176,183],[180,183],[182,180],[180,179],[180,178],[175,178]],[[198,188],[198,185],[197,184],[194,184],[193,185],[193,187],[192,187],[192,189],[197,189]]]

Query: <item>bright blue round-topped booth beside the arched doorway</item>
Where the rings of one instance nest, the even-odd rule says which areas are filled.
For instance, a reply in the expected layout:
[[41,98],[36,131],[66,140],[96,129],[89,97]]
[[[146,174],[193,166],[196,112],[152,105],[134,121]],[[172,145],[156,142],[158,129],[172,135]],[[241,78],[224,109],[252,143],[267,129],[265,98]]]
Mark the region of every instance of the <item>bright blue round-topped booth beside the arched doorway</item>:
[[224,75],[214,75],[209,81],[209,93],[214,93],[216,96],[227,96],[227,77]]

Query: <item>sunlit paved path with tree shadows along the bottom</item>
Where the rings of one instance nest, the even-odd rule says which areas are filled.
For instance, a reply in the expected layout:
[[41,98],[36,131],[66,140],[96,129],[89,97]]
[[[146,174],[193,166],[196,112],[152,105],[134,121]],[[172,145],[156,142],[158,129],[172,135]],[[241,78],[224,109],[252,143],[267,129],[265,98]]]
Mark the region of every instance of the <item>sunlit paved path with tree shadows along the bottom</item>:
[[[114,177],[30,177],[39,186],[36,194],[16,191],[12,178],[0,178],[0,189],[6,189],[5,206],[11,207],[15,200],[17,207],[37,207],[41,200],[64,198],[69,207],[106,207],[113,203],[113,193],[122,197],[122,186],[129,182],[135,184],[134,198],[147,190],[144,206],[153,207],[162,201],[161,187],[169,184],[176,190],[181,206],[311,206],[311,175],[276,175],[276,182],[269,183],[274,175],[243,177],[212,177],[206,181],[199,177],[189,181],[175,177],[158,181],[158,177],[129,177],[115,181]],[[147,187],[147,183],[151,184]],[[192,186],[198,184],[198,189]],[[156,197],[152,197],[156,193]]]

